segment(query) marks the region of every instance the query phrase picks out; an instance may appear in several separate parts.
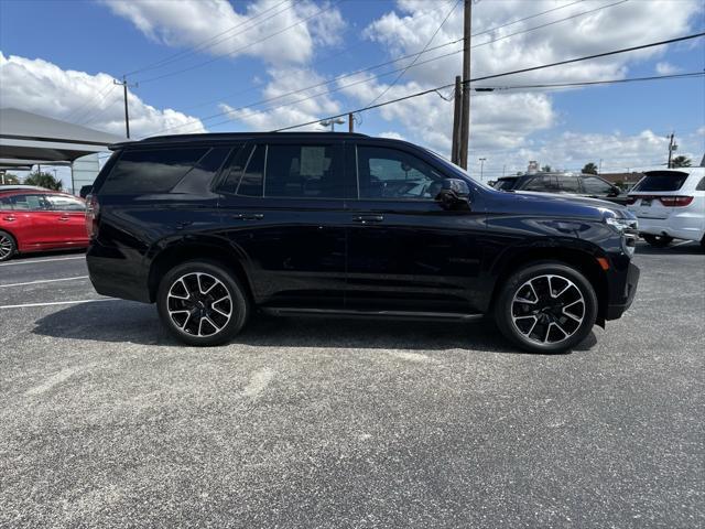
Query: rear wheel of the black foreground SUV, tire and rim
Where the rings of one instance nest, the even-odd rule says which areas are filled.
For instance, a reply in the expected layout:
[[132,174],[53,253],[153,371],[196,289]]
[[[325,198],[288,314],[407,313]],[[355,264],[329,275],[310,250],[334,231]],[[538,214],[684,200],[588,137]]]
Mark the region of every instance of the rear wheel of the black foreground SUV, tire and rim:
[[181,342],[220,345],[245,326],[250,302],[227,268],[210,260],[186,261],[172,268],[156,292],[162,325]]

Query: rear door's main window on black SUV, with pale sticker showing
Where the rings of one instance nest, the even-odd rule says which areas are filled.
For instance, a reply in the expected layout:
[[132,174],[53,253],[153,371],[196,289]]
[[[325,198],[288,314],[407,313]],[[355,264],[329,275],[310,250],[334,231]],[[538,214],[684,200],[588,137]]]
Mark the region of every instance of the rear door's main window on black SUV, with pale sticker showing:
[[268,145],[264,196],[343,198],[344,174],[333,152],[333,145]]

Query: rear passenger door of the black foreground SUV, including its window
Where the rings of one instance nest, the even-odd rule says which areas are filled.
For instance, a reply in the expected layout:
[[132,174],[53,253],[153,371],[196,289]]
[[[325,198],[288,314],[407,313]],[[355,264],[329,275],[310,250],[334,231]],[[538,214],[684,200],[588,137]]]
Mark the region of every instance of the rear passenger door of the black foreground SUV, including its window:
[[343,143],[325,137],[256,141],[234,160],[218,204],[258,303],[343,306],[344,171]]

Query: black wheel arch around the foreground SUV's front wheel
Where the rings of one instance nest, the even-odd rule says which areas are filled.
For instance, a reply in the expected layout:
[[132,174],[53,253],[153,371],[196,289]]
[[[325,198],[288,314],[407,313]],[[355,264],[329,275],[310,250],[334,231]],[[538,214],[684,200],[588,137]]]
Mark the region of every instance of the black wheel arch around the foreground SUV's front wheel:
[[496,267],[495,287],[492,289],[490,311],[494,310],[495,300],[503,282],[514,271],[527,264],[536,262],[560,262],[578,270],[590,282],[597,295],[597,321],[604,327],[607,316],[607,302],[609,299],[609,287],[605,270],[600,268],[597,257],[587,249],[565,248],[565,247],[541,247],[521,248],[505,256]]

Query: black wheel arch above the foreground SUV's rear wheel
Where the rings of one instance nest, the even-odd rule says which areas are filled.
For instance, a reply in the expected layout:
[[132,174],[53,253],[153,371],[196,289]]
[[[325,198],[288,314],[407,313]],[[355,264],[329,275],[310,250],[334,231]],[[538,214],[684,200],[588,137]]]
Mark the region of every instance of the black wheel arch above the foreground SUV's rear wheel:
[[152,259],[149,271],[150,302],[156,300],[159,283],[164,274],[182,262],[194,259],[207,259],[217,261],[227,267],[246,291],[250,302],[254,300],[252,284],[246,270],[246,258],[239,255],[232,247],[216,242],[180,242],[167,246]]

